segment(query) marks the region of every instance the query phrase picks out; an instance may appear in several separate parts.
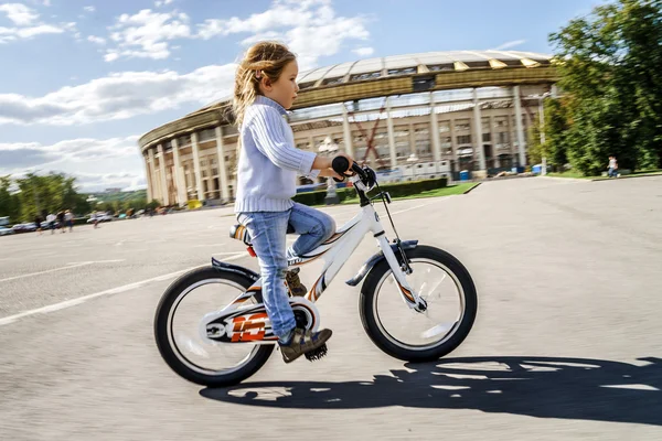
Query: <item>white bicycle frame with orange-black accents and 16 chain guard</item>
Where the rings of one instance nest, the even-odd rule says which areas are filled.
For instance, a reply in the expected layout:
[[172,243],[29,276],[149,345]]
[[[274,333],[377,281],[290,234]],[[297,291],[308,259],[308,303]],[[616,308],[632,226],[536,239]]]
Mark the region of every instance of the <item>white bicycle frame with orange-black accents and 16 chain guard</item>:
[[[353,176],[351,182],[357,192],[365,198],[367,189]],[[348,261],[350,256],[359,247],[367,233],[372,233],[377,240],[384,258],[388,262],[403,301],[410,309],[418,309],[421,300],[414,292],[406,279],[406,273],[401,268],[386,234],[380,220],[380,216],[371,203],[362,203],[361,212],[344,224],[337,233],[322,243],[312,251],[288,260],[288,267],[299,267],[310,263],[319,258],[324,261],[321,276],[303,298],[290,298],[292,310],[301,311],[312,324],[312,329],[319,325],[319,313],[314,303],[333,281],[338,272]],[[248,290],[239,294],[231,304],[223,310],[206,314],[201,323],[201,335],[212,342],[222,343],[275,343],[276,336],[270,333],[270,324],[264,304],[252,304],[244,306],[243,303],[261,291],[261,278],[257,279]],[[232,324],[232,326],[229,326]]]

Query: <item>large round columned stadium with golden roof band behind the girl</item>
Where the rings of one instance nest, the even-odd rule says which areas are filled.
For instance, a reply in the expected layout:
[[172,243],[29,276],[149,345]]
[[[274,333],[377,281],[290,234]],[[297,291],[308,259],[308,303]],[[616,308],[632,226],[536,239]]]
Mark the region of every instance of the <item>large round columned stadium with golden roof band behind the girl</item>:
[[[289,120],[298,148],[345,151],[384,180],[457,179],[463,170],[480,178],[527,164],[528,128],[557,79],[551,56],[531,52],[360,60],[301,73]],[[150,200],[233,200],[231,99],[151,130],[139,147]]]

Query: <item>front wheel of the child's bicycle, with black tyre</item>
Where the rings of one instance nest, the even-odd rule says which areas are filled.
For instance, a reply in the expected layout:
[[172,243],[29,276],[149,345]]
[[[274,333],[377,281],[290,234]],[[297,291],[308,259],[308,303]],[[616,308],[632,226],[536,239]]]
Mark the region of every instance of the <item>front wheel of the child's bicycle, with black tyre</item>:
[[448,252],[428,246],[406,250],[413,269],[409,286],[427,303],[425,312],[404,304],[393,271],[384,259],[361,290],[361,321],[386,354],[408,361],[438,359],[469,335],[478,310],[469,271]]

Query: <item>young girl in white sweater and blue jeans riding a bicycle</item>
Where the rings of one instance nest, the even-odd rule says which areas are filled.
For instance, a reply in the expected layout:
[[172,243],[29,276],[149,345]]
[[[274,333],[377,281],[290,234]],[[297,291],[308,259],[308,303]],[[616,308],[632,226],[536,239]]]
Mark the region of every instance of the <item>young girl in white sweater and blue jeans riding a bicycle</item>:
[[[287,109],[297,98],[298,73],[297,57],[285,45],[257,43],[237,68],[233,105],[241,137],[235,213],[250,234],[263,300],[286,363],[331,337],[330,330],[298,329],[288,300],[288,257],[311,251],[335,233],[332,217],[291,201],[296,175],[341,178],[331,169],[332,158],[295,147]],[[288,225],[300,236],[286,250]]]

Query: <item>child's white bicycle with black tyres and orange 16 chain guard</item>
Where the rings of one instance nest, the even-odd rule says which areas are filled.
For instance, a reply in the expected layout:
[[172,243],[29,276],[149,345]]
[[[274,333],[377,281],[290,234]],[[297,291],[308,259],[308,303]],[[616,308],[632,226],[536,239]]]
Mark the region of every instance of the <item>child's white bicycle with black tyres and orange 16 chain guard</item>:
[[[349,170],[348,160],[335,158],[333,169]],[[365,279],[360,298],[365,332],[377,347],[403,361],[427,362],[447,355],[467,337],[476,319],[478,298],[471,276],[441,249],[418,245],[418,240],[402,241],[388,212],[391,196],[380,190],[375,172],[356,163],[351,170],[354,174],[349,180],[360,197],[361,212],[317,249],[288,261],[290,269],[319,258],[324,261],[308,293],[290,297],[297,324],[319,327],[316,302],[372,233],[381,251],[345,282],[355,287]],[[366,194],[374,186],[378,194],[371,200]],[[374,209],[377,198],[393,225],[393,243]],[[235,225],[231,237],[243,240],[255,256],[245,227]],[[260,276],[214,258],[210,267],[181,276],[167,289],[157,308],[154,336],[161,356],[177,374],[211,387],[250,377],[277,342],[263,304]],[[325,347],[307,357],[316,359],[324,353]]]

